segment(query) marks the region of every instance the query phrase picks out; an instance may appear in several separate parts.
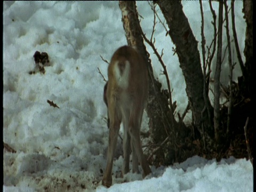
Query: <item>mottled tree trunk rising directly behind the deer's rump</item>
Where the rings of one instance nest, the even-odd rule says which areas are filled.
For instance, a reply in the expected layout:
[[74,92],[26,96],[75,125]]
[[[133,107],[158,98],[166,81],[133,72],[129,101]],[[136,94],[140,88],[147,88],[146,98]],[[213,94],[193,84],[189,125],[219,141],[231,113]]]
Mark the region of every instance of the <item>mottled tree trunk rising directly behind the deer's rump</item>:
[[[167,116],[170,113],[168,98],[161,92],[161,83],[157,82],[154,78],[149,53],[146,50],[141,35],[142,30],[135,1],[119,1],[119,7],[122,11],[123,27],[128,45],[136,46],[138,51],[147,61],[149,97],[146,111],[149,117],[149,129],[154,142],[161,143],[167,137],[167,134],[171,132],[170,118]],[[164,158],[163,153],[162,157],[158,158]]]

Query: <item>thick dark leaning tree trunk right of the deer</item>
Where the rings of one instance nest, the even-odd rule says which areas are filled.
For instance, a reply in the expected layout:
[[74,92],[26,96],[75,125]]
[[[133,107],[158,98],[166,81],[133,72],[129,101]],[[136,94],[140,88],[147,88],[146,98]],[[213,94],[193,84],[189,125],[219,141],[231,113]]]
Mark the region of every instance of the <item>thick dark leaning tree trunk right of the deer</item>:
[[[201,60],[197,49],[197,41],[189,26],[188,19],[182,11],[180,1],[156,1],[160,7],[167,25],[169,26],[169,35],[176,46],[180,67],[186,81],[186,92],[191,110],[193,113],[194,123],[202,138],[210,144],[214,135],[212,125],[212,107],[211,114],[207,113],[206,105],[210,104],[209,97],[204,100],[203,90],[203,71]],[[211,105],[209,105],[211,106]]]

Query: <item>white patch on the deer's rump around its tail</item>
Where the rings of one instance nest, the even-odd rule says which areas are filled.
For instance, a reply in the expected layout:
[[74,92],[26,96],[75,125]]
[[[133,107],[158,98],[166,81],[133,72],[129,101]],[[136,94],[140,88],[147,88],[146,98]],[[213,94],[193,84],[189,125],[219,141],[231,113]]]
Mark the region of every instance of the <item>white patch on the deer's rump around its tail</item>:
[[114,65],[114,75],[116,77],[116,82],[120,88],[127,89],[129,86],[130,62],[125,61],[125,67],[122,74],[119,69],[118,62],[119,61],[116,61]]

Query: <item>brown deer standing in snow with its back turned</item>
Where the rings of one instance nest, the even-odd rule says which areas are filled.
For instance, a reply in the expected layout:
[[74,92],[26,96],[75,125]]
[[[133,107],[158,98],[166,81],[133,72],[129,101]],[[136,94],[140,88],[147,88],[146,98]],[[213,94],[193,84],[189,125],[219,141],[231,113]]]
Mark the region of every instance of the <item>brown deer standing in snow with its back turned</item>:
[[119,47],[108,66],[108,82],[104,87],[103,100],[108,108],[109,138],[107,164],[102,185],[112,185],[114,153],[121,122],[124,126],[122,177],[130,172],[132,152],[132,172],[142,177],[151,173],[146,157],[143,155],[140,127],[143,110],[148,97],[148,71],[146,62],[137,49],[131,46]]

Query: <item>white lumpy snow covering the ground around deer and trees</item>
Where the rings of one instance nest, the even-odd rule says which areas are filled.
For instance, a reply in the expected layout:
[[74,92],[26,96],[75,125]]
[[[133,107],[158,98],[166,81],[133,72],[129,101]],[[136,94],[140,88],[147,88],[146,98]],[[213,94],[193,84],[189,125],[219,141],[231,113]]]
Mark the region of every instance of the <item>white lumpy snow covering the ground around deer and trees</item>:
[[[201,39],[199,3],[182,2],[196,38]],[[205,20],[211,20],[203,2]],[[153,14],[147,2],[137,2],[143,16],[141,25],[150,36]],[[217,12],[218,3],[213,2]],[[245,22],[242,1],[236,1],[236,27],[244,49]],[[253,167],[246,159],[210,161],[194,156],[169,167],[151,166],[141,174],[119,178],[122,145],[118,146],[113,167],[113,186],[102,187],[106,165],[107,109],[102,100],[107,64],[114,51],[126,44],[118,2],[3,2],[3,141],[17,151],[3,153],[3,191],[252,191]],[[160,13],[160,12],[159,12]],[[197,17],[195,17],[197,15]],[[160,14],[162,17],[162,15]],[[163,18],[163,17],[162,17]],[[206,19],[207,18],[207,19]],[[231,22],[230,22],[231,23]],[[208,45],[211,25],[205,27]],[[158,50],[173,88],[173,101],[182,113],[187,105],[185,82],[170,37],[157,24]],[[200,47],[198,43],[198,47]],[[234,45],[233,45],[234,46]],[[155,76],[166,83],[161,66],[150,47]],[[36,71],[36,51],[49,54],[45,74]],[[225,79],[227,65],[222,71]],[[235,70],[234,79],[241,74]],[[47,100],[58,105],[52,107]],[[142,130],[148,130],[147,115]],[[187,120],[189,122],[189,115]]]

